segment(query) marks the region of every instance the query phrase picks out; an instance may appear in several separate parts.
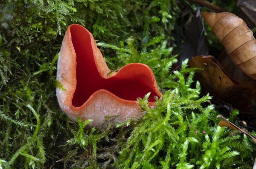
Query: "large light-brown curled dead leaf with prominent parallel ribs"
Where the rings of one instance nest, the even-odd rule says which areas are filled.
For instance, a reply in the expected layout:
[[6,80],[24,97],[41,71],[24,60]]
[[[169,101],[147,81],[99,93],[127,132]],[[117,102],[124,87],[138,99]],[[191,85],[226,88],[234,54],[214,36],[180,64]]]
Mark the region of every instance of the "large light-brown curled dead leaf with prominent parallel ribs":
[[246,23],[229,12],[202,12],[232,61],[248,76],[256,79],[256,39]]

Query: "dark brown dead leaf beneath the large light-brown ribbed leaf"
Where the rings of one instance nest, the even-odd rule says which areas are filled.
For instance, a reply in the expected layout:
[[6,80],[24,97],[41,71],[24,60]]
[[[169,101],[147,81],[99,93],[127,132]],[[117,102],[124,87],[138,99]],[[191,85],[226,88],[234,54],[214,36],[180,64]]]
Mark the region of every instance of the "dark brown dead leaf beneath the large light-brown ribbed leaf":
[[254,86],[239,85],[225,72],[213,56],[195,56],[190,59],[189,64],[192,67],[202,68],[196,73],[196,77],[214,96],[241,110],[250,106],[250,101],[244,103],[244,100],[255,97]]

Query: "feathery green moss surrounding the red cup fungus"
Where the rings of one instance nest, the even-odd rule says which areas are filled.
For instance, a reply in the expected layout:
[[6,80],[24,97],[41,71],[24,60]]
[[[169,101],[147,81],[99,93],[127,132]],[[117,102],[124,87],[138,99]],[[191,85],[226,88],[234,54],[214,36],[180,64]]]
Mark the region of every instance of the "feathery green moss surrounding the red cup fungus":
[[[187,60],[169,46],[181,11],[171,0],[5,0],[0,4],[1,168],[251,168],[255,144],[218,127]],[[67,25],[91,31],[112,69],[149,65],[163,91],[156,107],[117,129],[87,129],[61,112],[56,60]],[[237,112],[232,113],[234,121]],[[128,125],[132,124],[132,125]],[[124,125],[126,127],[124,127]],[[195,130],[198,134],[196,135]],[[201,133],[207,132],[207,134]],[[255,135],[255,132],[252,132]]]

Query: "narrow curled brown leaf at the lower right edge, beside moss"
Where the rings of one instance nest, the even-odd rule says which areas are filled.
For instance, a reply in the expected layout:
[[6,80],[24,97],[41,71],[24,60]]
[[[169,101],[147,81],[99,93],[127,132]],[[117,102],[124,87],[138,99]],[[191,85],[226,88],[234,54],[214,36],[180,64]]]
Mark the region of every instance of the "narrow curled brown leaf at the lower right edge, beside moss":
[[240,132],[248,135],[250,138],[253,139],[253,141],[256,143],[256,137],[251,135],[247,130],[245,129],[240,129],[237,127],[235,124],[231,123],[230,121],[227,120],[227,118],[224,118],[222,115],[217,115],[217,118],[221,118],[221,121],[219,121],[218,125],[220,127],[229,127],[232,130],[239,130]]

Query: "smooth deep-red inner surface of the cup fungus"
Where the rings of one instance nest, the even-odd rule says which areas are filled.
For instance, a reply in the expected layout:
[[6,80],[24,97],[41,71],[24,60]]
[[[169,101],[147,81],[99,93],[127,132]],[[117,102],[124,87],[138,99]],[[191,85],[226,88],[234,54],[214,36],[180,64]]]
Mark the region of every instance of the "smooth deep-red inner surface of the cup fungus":
[[148,92],[151,92],[148,101],[154,102],[154,97],[159,97],[152,83],[148,84],[146,77],[151,75],[145,66],[139,65],[131,71],[129,70],[131,66],[127,65],[115,76],[103,78],[99,71],[105,70],[98,70],[96,67],[90,34],[81,26],[71,26],[70,32],[77,64],[76,91],[72,99],[74,107],[80,107],[94,92],[101,89],[108,90],[121,99],[131,101],[137,100],[138,97],[143,98]]

